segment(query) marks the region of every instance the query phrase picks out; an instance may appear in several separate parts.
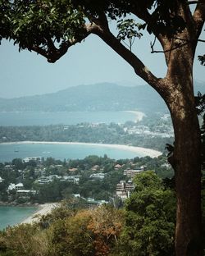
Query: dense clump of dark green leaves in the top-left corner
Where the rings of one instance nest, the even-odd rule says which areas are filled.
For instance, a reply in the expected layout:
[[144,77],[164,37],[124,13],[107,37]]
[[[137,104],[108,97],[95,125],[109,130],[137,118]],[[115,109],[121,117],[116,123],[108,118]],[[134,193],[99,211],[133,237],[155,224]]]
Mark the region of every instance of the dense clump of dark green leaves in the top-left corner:
[[[19,48],[31,50],[36,45],[52,48],[52,39],[65,43],[67,39],[79,38],[84,16],[75,10],[71,1],[4,1],[10,7],[10,16],[3,14],[4,24],[9,27],[6,35],[19,44]],[[10,3],[10,5],[9,5]],[[23,15],[22,15],[23,14]],[[7,18],[8,16],[8,18]],[[60,21],[60,22],[59,22]],[[4,32],[4,34],[3,34]],[[0,34],[5,37],[3,25]]]

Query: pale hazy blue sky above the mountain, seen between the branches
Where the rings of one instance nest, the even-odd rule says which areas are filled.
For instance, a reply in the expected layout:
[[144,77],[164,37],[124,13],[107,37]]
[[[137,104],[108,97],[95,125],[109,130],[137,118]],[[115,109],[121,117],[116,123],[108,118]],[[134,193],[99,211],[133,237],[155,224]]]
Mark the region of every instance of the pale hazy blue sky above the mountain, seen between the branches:
[[[138,56],[153,73],[162,77],[166,73],[162,53],[150,53],[148,39],[136,40]],[[156,47],[156,49],[159,49]],[[204,44],[198,44],[198,53],[204,53]],[[115,82],[120,85],[144,85],[121,57],[97,36],[89,36],[83,43],[69,49],[56,63],[28,51],[18,52],[18,46],[2,41],[0,45],[1,98],[46,94],[75,85]],[[205,67],[195,62],[195,79],[205,81]]]

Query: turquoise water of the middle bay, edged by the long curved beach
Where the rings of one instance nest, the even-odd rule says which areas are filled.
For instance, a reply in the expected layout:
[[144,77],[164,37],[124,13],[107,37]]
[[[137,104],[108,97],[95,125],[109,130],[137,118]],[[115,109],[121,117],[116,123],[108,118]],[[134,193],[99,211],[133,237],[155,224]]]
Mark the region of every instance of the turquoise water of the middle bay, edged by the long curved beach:
[[89,144],[0,144],[0,162],[10,162],[14,158],[43,157],[64,159],[83,159],[89,155],[125,159],[144,157],[144,153],[135,153],[126,149],[112,149]]

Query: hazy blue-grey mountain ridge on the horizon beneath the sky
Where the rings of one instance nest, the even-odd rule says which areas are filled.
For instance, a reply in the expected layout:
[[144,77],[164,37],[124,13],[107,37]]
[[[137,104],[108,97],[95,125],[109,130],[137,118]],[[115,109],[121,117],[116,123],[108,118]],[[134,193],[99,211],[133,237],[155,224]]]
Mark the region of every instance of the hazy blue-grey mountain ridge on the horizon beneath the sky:
[[[198,90],[202,91],[202,85]],[[135,87],[102,83],[79,85],[43,94],[21,98],[0,98],[0,112],[14,111],[166,111],[162,98],[148,85]]]

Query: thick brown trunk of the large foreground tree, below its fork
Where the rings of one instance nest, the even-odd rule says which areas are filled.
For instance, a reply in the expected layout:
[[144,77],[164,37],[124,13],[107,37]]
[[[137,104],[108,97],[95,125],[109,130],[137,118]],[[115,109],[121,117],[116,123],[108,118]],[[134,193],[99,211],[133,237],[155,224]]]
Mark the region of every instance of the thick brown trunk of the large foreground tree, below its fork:
[[201,142],[192,79],[189,75],[178,76],[170,82],[175,85],[168,103],[175,130],[175,148],[170,158],[175,169],[177,197],[175,253],[177,256],[202,255]]

